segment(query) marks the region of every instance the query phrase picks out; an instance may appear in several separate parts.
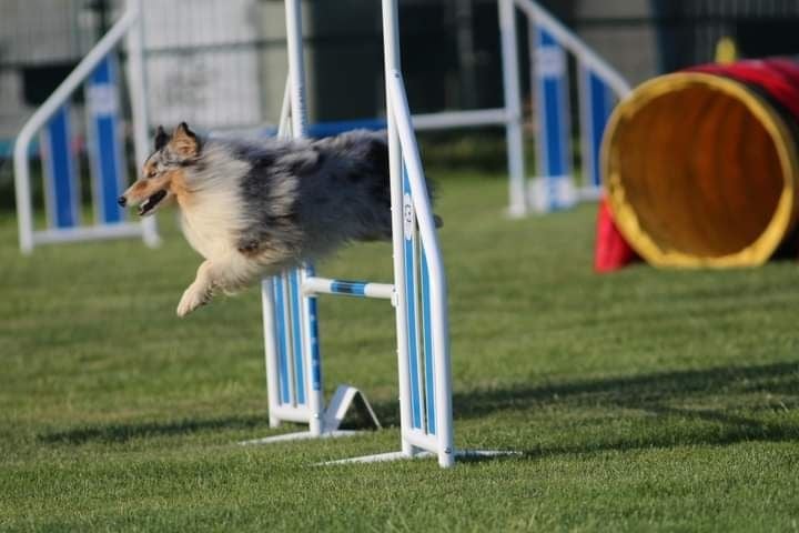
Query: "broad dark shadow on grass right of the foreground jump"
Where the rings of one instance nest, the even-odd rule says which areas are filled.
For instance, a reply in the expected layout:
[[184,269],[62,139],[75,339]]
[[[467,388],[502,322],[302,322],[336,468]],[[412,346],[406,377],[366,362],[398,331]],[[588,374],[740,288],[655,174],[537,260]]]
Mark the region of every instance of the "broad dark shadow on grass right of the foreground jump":
[[[457,419],[478,419],[503,411],[542,410],[556,406],[579,412],[607,410],[608,419],[621,419],[619,410],[640,411],[646,431],[626,434],[590,434],[581,442],[524,451],[528,457],[557,453],[590,453],[688,444],[726,445],[746,441],[799,441],[799,425],[773,422],[759,414],[799,408],[799,363],[760,366],[724,366],[629,378],[579,381],[545,386],[475,390],[454,398]],[[752,399],[751,394],[757,394]],[[674,406],[689,404],[690,408]],[[696,405],[696,406],[694,406]],[[705,406],[710,405],[710,406]],[[739,414],[741,412],[747,415]],[[675,424],[676,420],[687,424]],[[772,419],[773,420],[773,419]],[[702,424],[701,422],[707,422]],[[590,423],[587,421],[587,424]],[[579,440],[579,436],[577,438]]]

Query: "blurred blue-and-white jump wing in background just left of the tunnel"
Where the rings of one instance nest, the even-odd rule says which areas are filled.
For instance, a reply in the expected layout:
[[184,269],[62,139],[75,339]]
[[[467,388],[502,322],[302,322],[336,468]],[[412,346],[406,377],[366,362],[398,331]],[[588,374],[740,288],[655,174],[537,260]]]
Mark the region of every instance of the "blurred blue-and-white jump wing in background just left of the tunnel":
[[[601,194],[597,158],[605,124],[616,100],[629,94],[629,83],[572,30],[534,0],[497,0],[502,34],[503,86],[508,114],[508,169],[510,214],[522,215],[528,205],[547,212],[568,208]],[[537,177],[525,188],[522,95],[516,34],[516,11],[529,27],[529,57],[534,119],[536,122]],[[574,175],[569,110],[569,58],[578,72],[579,137],[584,178]]]

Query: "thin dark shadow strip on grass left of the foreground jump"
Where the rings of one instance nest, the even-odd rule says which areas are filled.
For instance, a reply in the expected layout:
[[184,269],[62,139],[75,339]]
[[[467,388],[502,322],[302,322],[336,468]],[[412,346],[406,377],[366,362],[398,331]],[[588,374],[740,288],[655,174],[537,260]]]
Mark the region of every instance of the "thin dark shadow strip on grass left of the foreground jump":
[[153,436],[180,436],[204,431],[253,429],[269,429],[269,418],[264,414],[208,420],[186,419],[171,422],[113,423],[45,433],[39,435],[38,440],[45,444],[80,445],[88,442],[120,444],[134,439]]

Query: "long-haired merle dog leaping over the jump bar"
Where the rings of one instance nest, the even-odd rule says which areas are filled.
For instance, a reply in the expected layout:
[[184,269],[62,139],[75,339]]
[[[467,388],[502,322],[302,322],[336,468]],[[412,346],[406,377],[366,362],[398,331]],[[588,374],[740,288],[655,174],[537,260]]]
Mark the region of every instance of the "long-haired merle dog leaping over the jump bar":
[[[429,191],[428,191],[429,192]],[[218,292],[392,234],[385,132],[310,139],[201,139],[159,127],[142,175],[119,198],[141,217],[169,202],[204,259],[178,304],[185,316]],[[437,219],[441,220],[441,219]]]

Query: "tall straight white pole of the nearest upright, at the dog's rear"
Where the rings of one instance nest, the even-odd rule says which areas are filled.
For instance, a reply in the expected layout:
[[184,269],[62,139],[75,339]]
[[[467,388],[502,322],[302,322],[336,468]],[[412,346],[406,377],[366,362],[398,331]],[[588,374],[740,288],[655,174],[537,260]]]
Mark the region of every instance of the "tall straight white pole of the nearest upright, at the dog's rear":
[[[386,83],[386,125],[388,132],[388,172],[391,175],[392,198],[392,257],[394,261],[394,288],[396,291],[396,339],[397,339],[397,368],[400,384],[400,425],[402,432],[411,428],[411,382],[408,366],[408,338],[407,338],[407,298],[405,288],[405,266],[403,264],[403,188],[402,188],[402,153],[400,137],[396,130],[396,120],[391,102],[390,79],[392,72],[400,68],[400,29],[396,0],[382,0],[383,2],[383,57],[385,63]],[[414,455],[418,449],[413,446],[402,435],[402,453]]]

